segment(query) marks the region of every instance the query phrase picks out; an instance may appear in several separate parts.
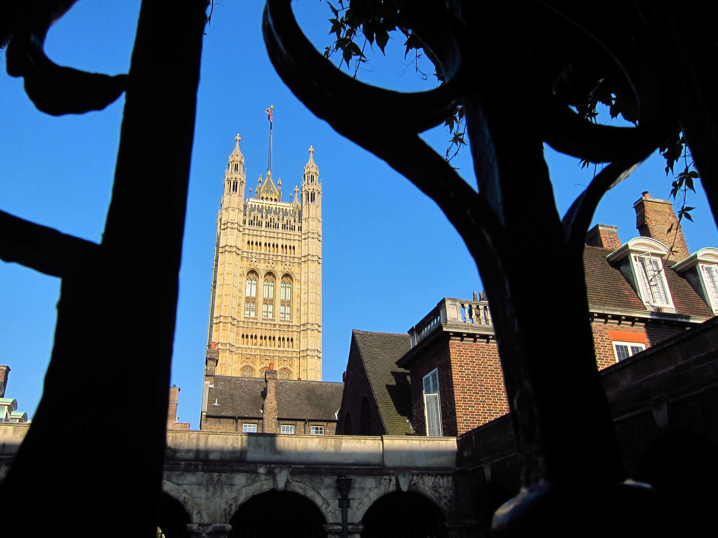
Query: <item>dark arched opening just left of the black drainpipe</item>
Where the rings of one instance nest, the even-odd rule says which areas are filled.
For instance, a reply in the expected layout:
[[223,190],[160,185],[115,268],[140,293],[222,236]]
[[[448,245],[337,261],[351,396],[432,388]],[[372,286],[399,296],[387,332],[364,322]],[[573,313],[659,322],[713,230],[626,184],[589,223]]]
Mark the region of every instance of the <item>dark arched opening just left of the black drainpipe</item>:
[[292,491],[266,491],[243,503],[230,519],[228,538],[320,538],[327,534],[322,511]]

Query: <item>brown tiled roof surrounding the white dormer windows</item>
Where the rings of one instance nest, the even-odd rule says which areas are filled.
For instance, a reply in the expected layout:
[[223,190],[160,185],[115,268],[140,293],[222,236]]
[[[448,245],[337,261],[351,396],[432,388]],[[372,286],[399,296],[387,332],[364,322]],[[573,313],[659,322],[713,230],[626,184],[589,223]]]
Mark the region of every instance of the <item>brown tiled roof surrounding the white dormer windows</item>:
[[[601,247],[584,248],[584,267],[586,269],[586,288],[588,302],[592,306],[631,308],[645,310],[643,301],[633,290],[620,270],[608,263],[605,258],[613,251]],[[669,265],[670,262],[666,263]],[[673,269],[666,267],[666,280],[671,290],[676,311],[690,316],[712,317],[709,306],[696,293],[685,278]]]

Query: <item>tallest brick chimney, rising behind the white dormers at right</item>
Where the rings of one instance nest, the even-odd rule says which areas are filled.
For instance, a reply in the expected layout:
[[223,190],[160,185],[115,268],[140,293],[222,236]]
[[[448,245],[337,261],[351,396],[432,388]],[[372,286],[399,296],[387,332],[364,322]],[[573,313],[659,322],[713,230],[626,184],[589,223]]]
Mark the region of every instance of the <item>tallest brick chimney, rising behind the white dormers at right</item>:
[[633,204],[633,209],[635,209],[635,227],[638,228],[640,235],[652,237],[668,248],[673,245],[673,251],[668,254],[668,260],[680,261],[688,258],[686,238],[683,236],[683,230],[673,212],[671,202],[651,198],[651,194],[645,191],[638,202]]

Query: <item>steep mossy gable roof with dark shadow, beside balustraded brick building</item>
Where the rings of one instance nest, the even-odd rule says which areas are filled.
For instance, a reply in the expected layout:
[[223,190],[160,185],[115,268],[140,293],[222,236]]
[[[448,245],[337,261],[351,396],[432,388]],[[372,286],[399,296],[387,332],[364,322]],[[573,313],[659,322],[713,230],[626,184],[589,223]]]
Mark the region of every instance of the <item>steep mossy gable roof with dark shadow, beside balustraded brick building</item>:
[[409,370],[396,361],[409,351],[408,334],[352,331],[387,435],[406,435],[411,418]]

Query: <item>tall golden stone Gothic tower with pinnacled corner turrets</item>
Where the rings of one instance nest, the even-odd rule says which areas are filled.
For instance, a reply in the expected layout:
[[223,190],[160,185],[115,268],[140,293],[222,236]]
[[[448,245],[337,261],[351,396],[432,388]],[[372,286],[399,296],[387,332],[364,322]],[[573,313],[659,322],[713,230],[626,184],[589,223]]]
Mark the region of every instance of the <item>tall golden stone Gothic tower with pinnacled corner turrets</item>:
[[217,218],[205,381],[214,375],[322,379],[322,187],[314,148],[282,201],[271,169],[245,197],[240,136]]

